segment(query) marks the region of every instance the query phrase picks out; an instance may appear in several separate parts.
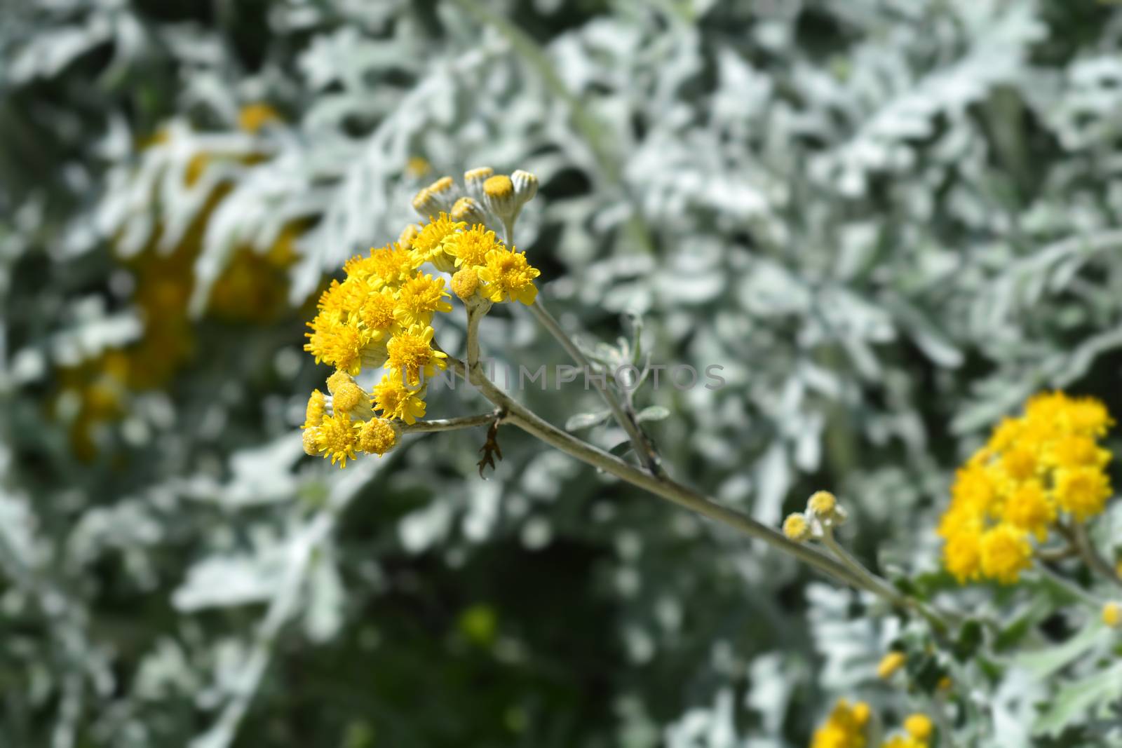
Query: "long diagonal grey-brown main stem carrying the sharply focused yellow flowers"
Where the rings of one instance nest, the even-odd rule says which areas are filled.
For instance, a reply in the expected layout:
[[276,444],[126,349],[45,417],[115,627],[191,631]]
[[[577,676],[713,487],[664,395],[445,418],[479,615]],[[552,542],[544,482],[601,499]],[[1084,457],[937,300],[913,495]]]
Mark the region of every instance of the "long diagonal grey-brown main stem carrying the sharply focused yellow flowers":
[[[781,533],[773,530],[766,525],[734,509],[729,509],[670,478],[652,475],[644,470],[640,470],[614,454],[579,440],[568,432],[561,431],[509,397],[487,379],[482,367],[479,366],[478,330],[482,314],[478,311],[468,311],[467,350],[469,363],[465,363],[452,355],[448,357],[448,361],[459,376],[465,377],[484,397],[496,405],[502,412],[505,412],[505,415],[502,416],[504,423],[509,423],[527,434],[536,436],[550,446],[625,480],[633,486],[721,523],[743,535],[763,541],[767,545],[783,551],[818,571],[833,576],[843,584],[868,590],[881,597],[884,595],[884,590],[871,587],[866,576],[855,574],[849,567],[830,558],[826,554],[810,546],[789,541]],[[896,600],[890,600],[890,602],[895,603]]]

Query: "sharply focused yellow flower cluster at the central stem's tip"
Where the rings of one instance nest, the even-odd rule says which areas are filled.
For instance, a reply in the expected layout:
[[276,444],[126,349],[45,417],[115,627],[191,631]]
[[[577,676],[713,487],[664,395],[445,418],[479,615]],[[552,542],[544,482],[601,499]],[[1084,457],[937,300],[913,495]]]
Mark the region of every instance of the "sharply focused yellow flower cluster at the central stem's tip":
[[[469,175],[472,173],[469,172]],[[442,177],[414,198],[417,211],[452,209],[459,197],[451,177]],[[472,205],[475,205],[472,203]],[[482,210],[466,211],[485,216]],[[410,224],[396,242],[356,256],[343,266],[346,278],[333,280],[320,296],[304,350],[335,372],[329,395],[314,390],[303,425],[304,450],[346,467],[356,452],[385,454],[401,432],[425,415],[425,380],[447,367],[435,347],[432,322],[451,312],[443,273],[454,274],[450,287],[468,306],[518,301],[537,295],[524,252],[508,248],[485,223],[468,224],[440,211],[424,225]],[[438,273],[424,273],[432,266]],[[362,370],[384,369],[371,391],[355,380]]]

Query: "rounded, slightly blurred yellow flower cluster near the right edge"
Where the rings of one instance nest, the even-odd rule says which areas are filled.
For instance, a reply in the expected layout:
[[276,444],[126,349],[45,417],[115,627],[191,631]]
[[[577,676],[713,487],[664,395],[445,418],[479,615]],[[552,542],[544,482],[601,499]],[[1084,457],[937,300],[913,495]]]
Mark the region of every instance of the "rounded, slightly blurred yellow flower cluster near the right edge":
[[1111,497],[1097,441],[1113,423],[1093,398],[1046,393],[1006,418],[958,471],[939,523],[944,565],[959,582],[1012,583],[1057,523],[1082,523]]

